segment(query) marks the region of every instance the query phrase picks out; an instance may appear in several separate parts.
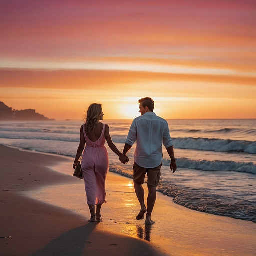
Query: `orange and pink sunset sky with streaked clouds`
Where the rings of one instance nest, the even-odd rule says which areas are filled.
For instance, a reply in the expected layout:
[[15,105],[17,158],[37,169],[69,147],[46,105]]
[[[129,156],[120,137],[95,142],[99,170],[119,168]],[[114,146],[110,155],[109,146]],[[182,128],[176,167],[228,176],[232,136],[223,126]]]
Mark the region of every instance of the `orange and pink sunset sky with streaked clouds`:
[[0,1],[0,100],[49,118],[256,118],[255,0]]

